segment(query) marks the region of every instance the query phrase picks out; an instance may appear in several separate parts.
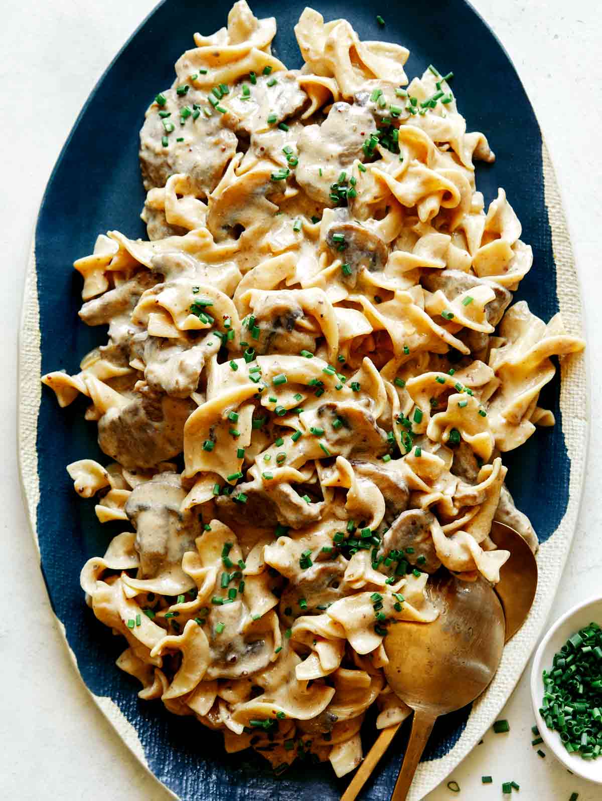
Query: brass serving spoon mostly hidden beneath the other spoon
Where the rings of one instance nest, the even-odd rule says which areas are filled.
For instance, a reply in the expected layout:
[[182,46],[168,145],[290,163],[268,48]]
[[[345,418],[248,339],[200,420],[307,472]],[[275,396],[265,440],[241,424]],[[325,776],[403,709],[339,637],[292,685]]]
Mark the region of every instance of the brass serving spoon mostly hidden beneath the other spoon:
[[[523,625],[531,609],[537,589],[537,562],[527,542],[510,526],[495,522],[491,528],[491,539],[499,548],[509,550],[511,553],[500,570],[500,580],[495,586],[506,617],[504,639],[507,642]],[[354,779],[341,796],[341,801],[354,801],[357,798],[401,726],[402,723],[398,723],[382,730]]]

